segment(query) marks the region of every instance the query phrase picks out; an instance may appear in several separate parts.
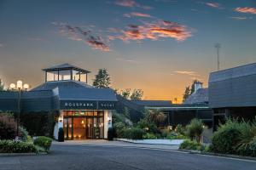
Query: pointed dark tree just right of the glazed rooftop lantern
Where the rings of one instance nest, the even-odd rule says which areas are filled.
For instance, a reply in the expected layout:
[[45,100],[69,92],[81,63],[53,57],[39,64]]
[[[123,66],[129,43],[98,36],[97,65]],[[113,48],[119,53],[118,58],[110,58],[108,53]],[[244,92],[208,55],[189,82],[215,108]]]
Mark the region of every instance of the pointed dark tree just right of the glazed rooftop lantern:
[[92,83],[96,88],[109,88],[110,77],[107,69],[100,69]]

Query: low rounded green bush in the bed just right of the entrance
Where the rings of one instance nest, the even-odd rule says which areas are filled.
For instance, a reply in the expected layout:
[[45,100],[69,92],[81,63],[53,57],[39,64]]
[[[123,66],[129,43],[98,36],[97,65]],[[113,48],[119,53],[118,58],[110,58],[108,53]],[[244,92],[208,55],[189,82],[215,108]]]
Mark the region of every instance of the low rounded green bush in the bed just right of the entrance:
[[132,128],[127,128],[123,129],[123,133],[120,136],[120,138],[124,139],[143,139],[143,135],[145,132],[143,129],[137,128],[137,127],[132,127]]

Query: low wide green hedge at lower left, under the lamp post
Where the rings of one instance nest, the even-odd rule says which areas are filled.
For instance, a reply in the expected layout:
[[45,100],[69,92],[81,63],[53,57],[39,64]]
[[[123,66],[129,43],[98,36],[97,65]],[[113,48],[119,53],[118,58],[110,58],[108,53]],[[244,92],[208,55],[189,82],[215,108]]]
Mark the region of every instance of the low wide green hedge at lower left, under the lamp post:
[[0,153],[32,153],[37,148],[30,142],[15,140],[0,140]]

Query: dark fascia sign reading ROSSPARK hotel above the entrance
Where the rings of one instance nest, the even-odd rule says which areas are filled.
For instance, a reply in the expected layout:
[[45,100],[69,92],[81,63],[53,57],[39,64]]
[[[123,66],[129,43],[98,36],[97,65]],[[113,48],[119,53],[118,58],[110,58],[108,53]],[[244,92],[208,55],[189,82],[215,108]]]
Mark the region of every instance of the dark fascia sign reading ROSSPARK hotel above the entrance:
[[60,109],[74,109],[74,110],[114,110],[115,101],[84,101],[84,100],[61,100]]

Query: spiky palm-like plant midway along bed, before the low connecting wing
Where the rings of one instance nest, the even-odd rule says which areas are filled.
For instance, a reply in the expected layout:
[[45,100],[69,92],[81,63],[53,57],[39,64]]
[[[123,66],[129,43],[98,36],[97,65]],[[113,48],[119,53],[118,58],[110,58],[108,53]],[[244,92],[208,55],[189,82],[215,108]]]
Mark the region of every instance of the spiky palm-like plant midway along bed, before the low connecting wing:
[[166,115],[160,110],[147,110],[146,119],[148,122],[159,124],[166,121]]

